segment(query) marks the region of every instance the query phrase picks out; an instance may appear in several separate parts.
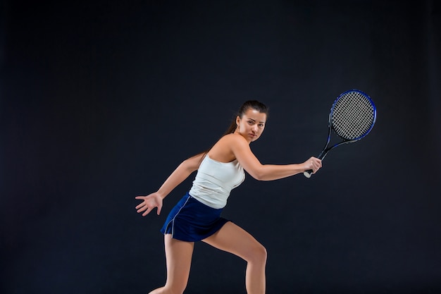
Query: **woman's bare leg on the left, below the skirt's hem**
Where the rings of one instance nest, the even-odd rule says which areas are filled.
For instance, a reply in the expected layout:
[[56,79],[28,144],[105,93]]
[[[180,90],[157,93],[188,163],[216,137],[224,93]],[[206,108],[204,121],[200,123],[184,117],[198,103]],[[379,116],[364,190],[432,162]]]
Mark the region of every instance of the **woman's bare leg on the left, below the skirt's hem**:
[[164,235],[166,247],[167,281],[166,285],[149,294],[182,294],[187,287],[192,264],[193,242],[185,242]]

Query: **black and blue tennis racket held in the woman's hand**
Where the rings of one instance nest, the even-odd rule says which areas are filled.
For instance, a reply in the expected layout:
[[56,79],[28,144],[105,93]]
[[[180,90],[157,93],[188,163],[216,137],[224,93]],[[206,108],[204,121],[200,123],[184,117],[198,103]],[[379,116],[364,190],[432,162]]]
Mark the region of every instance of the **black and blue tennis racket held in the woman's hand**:
[[[363,139],[371,132],[377,118],[377,109],[371,97],[359,90],[349,90],[335,99],[330,109],[328,121],[328,140],[318,159],[323,160],[337,146],[353,143]],[[331,134],[340,137],[335,145],[330,145]],[[312,170],[304,171],[304,176],[310,178]]]

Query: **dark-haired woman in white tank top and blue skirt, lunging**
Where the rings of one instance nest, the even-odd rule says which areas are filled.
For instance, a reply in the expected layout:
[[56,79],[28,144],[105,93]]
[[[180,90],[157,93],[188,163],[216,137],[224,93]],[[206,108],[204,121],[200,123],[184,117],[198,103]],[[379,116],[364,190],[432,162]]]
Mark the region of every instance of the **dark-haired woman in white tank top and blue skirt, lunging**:
[[252,235],[220,215],[230,191],[244,180],[247,171],[256,180],[277,180],[307,170],[316,173],[321,160],[311,157],[302,164],[261,164],[249,147],[265,129],[268,109],[257,101],[245,102],[228,131],[207,152],[182,161],[158,191],[137,196],[138,213],[146,216],[155,207],[161,213],[163,198],[197,171],[192,188],[172,209],[161,232],[166,248],[166,285],[150,294],[183,293],[193,254],[199,240],[230,252],[247,262],[248,294],[265,293],[266,249]]

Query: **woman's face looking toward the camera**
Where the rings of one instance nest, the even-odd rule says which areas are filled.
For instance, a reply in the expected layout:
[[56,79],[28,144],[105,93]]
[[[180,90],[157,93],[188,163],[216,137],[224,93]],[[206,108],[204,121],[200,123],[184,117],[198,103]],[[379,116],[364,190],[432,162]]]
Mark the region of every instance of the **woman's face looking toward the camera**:
[[247,112],[240,118],[236,118],[237,130],[235,133],[240,133],[247,141],[254,142],[263,133],[266,123],[266,114],[262,114],[255,109],[248,109]]

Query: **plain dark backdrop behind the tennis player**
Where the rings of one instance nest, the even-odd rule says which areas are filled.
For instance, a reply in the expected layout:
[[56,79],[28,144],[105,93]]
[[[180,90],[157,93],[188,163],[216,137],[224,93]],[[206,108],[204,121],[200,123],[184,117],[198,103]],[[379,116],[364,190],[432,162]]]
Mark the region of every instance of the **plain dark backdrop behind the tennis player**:
[[[368,137],[311,179],[247,180],[224,216],[268,250],[268,293],[441,293],[440,4],[3,1],[2,293],[147,293],[163,221],[142,218],[246,99],[271,109],[263,163],[323,147],[333,99],[364,90]],[[241,259],[198,243],[186,293],[244,293]]]

